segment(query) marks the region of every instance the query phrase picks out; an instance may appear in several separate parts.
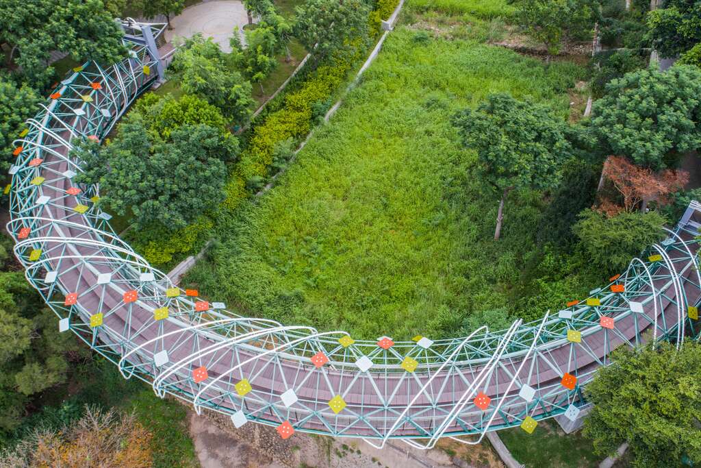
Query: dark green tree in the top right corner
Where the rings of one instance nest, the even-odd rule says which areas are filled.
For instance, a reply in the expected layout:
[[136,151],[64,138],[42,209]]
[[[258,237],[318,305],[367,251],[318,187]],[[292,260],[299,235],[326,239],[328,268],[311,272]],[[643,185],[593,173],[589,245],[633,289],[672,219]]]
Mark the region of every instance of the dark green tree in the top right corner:
[[647,17],[648,36],[660,57],[673,58],[701,42],[701,3],[667,0]]

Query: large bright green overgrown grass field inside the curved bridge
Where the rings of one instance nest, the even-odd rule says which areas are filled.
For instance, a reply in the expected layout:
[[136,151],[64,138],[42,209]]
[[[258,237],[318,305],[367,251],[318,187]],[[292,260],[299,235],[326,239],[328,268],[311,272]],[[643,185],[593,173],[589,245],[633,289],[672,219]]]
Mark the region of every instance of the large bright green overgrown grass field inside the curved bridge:
[[[543,257],[535,241],[543,197],[511,197],[495,243],[498,198],[475,180],[475,156],[450,120],[496,91],[565,118],[567,91],[582,74],[397,27],[280,184],[235,215],[222,213],[218,246],[183,285],[246,314],[368,339],[454,335],[476,311],[505,305],[542,314],[547,304],[535,312],[514,305],[538,291],[515,285]],[[547,299],[564,302],[591,286],[571,283]]]

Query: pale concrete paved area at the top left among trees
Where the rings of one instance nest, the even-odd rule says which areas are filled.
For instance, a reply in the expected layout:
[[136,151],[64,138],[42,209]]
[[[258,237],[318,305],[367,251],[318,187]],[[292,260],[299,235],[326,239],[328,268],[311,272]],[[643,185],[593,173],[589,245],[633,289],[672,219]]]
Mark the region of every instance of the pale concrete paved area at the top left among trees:
[[165,39],[170,42],[174,37],[191,37],[201,32],[211,37],[224,52],[231,52],[229,38],[233,28],[241,31],[248,24],[246,9],[238,0],[207,1],[189,6],[170,20],[172,30],[165,30]]

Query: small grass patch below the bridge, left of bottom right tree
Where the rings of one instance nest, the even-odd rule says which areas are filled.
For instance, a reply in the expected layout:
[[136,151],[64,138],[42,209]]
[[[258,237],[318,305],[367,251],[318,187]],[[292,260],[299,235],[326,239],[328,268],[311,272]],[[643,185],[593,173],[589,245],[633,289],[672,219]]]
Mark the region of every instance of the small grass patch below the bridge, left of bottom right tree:
[[505,429],[499,437],[519,463],[526,467],[594,468],[604,457],[581,432],[565,434],[554,420],[538,421],[533,434],[520,427]]

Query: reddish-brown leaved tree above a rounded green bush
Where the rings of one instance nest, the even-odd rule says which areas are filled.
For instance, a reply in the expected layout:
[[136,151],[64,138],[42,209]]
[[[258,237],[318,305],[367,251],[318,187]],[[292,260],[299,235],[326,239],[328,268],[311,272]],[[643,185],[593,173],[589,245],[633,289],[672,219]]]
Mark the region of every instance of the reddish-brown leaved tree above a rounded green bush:
[[646,210],[648,202],[667,203],[669,194],[681,189],[689,180],[686,171],[665,169],[655,173],[648,168],[641,168],[623,156],[608,156],[604,162],[604,178],[610,180],[613,187],[623,198],[623,206],[611,200],[602,199],[599,210],[608,215],[620,211]]

